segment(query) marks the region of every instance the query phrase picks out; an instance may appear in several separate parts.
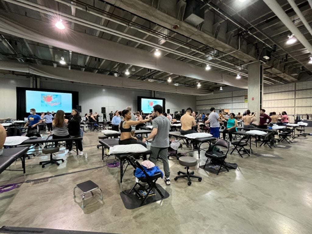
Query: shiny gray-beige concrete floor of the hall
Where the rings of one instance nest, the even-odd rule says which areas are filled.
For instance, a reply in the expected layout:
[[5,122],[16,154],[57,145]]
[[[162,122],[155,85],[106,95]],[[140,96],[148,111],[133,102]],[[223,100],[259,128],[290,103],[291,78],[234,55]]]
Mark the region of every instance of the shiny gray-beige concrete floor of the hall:
[[[312,128],[306,130],[312,132]],[[21,183],[12,191],[0,194],[0,226],[42,227],[112,233],[312,233],[311,142],[312,136],[295,139],[277,148],[260,147],[258,154],[240,158],[229,155],[227,162],[237,163],[237,170],[218,176],[192,168],[202,182],[193,179],[174,181],[177,171],[184,170],[176,158],[170,158],[171,185],[158,183],[170,197],[134,210],[127,210],[119,195],[119,169],[101,167],[101,149],[96,148],[100,133],[84,135],[84,152],[88,158],[58,154],[65,159],[60,166],[39,166],[46,156],[26,161],[26,180],[48,176],[49,183],[31,186]],[[188,148],[183,146],[183,150]],[[193,155],[193,153],[191,153]],[[265,155],[264,155],[265,156]],[[194,157],[198,158],[197,152]],[[113,161],[110,157],[108,161]],[[201,151],[199,164],[206,161]],[[157,165],[162,169],[161,161]],[[21,167],[18,161],[11,169]],[[100,168],[99,168],[100,167]],[[95,169],[92,169],[95,168]],[[90,169],[90,170],[85,170]],[[84,170],[84,171],[83,171]],[[77,183],[93,180],[103,190],[87,194],[85,209],[81,209],[82,193],[72,189]],[[5,171],[0,184],[23,182],[22,172]],[[124,176],[123,190],[134,185],[132,169]]]

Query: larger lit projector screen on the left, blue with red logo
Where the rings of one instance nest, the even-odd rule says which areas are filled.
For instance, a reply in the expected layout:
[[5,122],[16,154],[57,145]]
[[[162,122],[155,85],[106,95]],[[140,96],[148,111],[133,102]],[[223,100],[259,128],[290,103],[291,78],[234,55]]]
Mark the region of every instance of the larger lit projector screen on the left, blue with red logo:
[[63,110],[65,113],[71,112],[72,94],[61,92],[33,91],[26,90],[26,112],[31,108],[36,112],[47,112]]

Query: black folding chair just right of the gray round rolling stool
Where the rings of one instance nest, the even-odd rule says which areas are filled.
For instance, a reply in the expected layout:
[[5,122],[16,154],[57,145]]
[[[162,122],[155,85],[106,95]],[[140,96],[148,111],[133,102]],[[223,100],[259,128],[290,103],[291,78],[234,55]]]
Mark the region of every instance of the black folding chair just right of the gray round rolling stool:
[[[223,154],[223,153],[214,151],[213,149],[215,146],[220,146],[220,147],[226,148],[226,150],[227,150],[226,153]],[[205,156],[207,157],[207,161],[205,163],[204,168],[206,167],[207,162],[210,159],[214,165],[219,166],[219,170],[217,172],[217,175],[219,174],[222,167],[227,169],[227,166],[224,164],[224,160],[227,158],[227,153],[229,152],[229,149],[230,149],[230,143],[228,141],[223,140],[223,139],[217,140],[217,142],[212,147],[212,151],[205,153]],[[229,169],[227,169],[227,171],[229,171]]]

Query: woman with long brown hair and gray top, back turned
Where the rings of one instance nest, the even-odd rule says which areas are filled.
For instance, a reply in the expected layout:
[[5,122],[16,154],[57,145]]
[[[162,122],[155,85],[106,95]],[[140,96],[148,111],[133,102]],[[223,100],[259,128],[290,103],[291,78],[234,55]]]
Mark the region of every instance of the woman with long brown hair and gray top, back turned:
[[[60,139],[60,138],[70,138],[71,136],[68,133],[67,126],[65,123],[65,113],[63,110],[58,110],[54,116],[52,125],[54,127],[52,138]],[[56,146],[58,142],[55,142]],[[66,154],[71,154],[72,141],[66,141],[66,147],[68,148],[68,152]]]

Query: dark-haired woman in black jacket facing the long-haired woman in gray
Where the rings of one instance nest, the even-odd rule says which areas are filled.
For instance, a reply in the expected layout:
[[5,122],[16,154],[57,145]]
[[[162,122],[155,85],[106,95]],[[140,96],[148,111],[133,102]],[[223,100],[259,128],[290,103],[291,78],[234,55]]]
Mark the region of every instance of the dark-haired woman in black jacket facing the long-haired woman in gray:
[[[80,135],[80,115],[76,109],[71,110],[71,115],[65,117],[65,123],[68,123],[68,133],[71,136]],[[72,142],[71,142],[72,144]],[[79,156],[83,156],[82,142],[81,139],[76,140],[77,149],[80,150]]]

